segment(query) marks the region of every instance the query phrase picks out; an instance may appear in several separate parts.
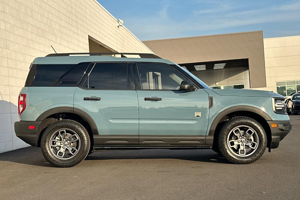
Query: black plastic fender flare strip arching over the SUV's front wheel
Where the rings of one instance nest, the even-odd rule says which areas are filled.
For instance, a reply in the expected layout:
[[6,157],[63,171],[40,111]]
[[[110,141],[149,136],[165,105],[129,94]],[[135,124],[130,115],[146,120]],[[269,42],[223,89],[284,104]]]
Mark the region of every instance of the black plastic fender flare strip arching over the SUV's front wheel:
[[230,113],[233,113],[233,112],[236,112],[236,111],[249,111],[249,112],[253,112],[255,114],[258,114],[258,115],[262,116],[266,121],[271,121],[272,120],[271,117],[267,113],[260,110],[259,108],[255,108],[255,107],[252,107],[252,106],[233,106],[231,108],[227,108],[224,111],[220,112],[217,115],[217,117],[214,118],[214,121],[211,123],[208,135],[213,136],[220,120],[223,117],[225,117],[226,115],[228,115]]

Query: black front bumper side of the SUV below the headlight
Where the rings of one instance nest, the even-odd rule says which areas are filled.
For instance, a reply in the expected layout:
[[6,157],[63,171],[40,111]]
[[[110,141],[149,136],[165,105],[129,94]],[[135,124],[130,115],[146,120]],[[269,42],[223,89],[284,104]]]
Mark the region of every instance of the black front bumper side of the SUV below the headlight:
[[[291,122],[289,120],[282,121],[268,121],[268,124],[271,129],[272,140],[271,143],[268,143],[268,147],[271,149],[276,149],[279,146],[279,142],[289,133],[292,129]],[[276,127],[272,127],[272,124],[276,124]],[[270,150],[270,148],[269,148]]]

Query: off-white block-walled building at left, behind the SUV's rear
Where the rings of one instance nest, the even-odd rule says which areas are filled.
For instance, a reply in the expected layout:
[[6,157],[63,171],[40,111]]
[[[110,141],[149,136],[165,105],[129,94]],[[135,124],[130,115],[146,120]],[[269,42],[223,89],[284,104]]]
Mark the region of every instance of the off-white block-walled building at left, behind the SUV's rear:
[[[125,22],[126,23],[126,22]],[[0,0],[0,153],[16,137],[17,101],[35,57],[67,52],[152,53],[96,0]]]

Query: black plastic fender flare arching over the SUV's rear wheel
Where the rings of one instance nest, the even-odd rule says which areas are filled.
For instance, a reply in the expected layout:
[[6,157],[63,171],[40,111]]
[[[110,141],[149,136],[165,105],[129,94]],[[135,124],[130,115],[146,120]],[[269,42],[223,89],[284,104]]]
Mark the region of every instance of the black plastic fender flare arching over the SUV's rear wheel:
[[72,114],[78,115],[79,117],[84,119],[91,126],[93,135],[99,135],[98,128],[97,128],[95,121],[85,111],[82,111],[78,108],[67,107],[67,106],[51,108],[51,109],[45,111],[44,113],[42,113],[35,121],[43,121],[47,117],[49,117],[53,114],[57,114],[57,113],[72,113]]

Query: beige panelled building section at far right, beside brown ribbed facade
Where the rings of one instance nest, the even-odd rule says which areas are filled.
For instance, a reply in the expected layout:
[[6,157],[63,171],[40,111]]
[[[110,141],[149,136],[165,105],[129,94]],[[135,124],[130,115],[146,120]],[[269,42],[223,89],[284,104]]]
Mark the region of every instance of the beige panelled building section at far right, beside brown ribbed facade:
[[300,91],[300,36],[264,39],[269,91],[288,95]]

